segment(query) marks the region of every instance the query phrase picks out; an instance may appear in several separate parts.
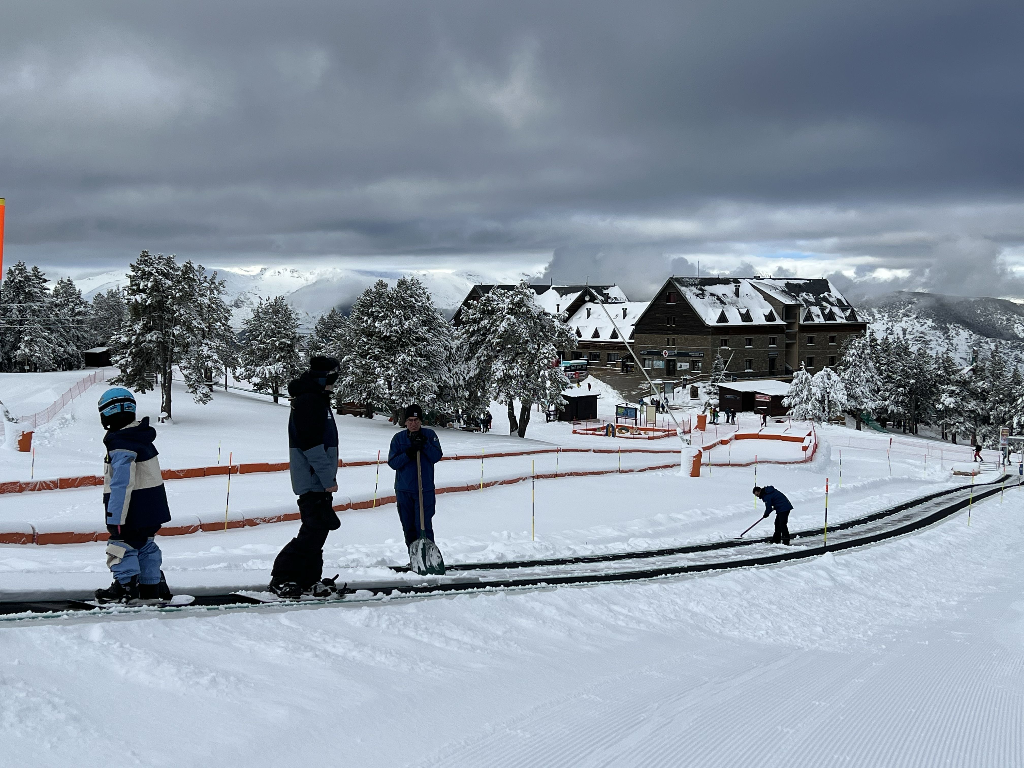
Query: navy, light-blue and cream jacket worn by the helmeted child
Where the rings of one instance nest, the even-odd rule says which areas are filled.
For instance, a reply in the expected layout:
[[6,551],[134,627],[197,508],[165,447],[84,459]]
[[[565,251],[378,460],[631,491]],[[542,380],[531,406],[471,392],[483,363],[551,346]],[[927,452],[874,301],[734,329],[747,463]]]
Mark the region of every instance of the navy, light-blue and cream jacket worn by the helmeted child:
[[159,527],[171,519],[150,417],[103,436],[103,509],[106,524],[129,530]]

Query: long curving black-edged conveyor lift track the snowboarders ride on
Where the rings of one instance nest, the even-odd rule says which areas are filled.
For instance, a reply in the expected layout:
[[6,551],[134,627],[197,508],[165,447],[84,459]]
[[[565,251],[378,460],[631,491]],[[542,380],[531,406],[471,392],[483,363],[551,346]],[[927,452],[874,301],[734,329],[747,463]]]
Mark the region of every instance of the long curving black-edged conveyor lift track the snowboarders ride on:
[[[153,617],[165,614],[196,614],[224,610],[284,610],[328,605],[365,605],[395,599],[444,597],[465,592],[548,589],[558,586],[635,582],[666,579],[717,570],[749,568],[806,560],[826,552],[866,547],[906,536],[968,509],[1004,489],[1009,475],[987,483],[963,485],[929,494],[862,517],[829,526],[827,544],[824,529],[794,534],[793,545],[782,548],[770,539],[733,539],[686,545],[670,549],[616,552],[605,555],[514,560],[484,563],[457,563],[449,573],[458,575],[416,577],[408,568],[394,567],[393,581],[350,583],[352,594],[338,600],[262,602],[239,592],[199,595],[186,606],[104,606],[69,599],[0,602],[0,623],[39,620],[85,620]],[[1014,487],[1019,483],[1015,483]],[[813,543],[812,543],[813,542]],[[739,556],[722,557],[725,552]],[[745,555],[745,556],[744,556]],[[639,561],[639,562],[638,562]],[[644,562],[646,561],[646,562]],[[494,571],[515,571],[495,574]],[[249,588],[258,591],[262,587]],[[243,590],[244,591],[244,590]]]

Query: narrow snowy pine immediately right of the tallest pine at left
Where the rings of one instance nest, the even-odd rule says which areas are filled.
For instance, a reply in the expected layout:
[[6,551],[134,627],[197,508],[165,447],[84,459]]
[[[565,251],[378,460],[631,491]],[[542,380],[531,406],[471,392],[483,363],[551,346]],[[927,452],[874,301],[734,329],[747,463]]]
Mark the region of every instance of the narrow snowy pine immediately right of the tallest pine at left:
[[190,261],[181,266],[183,291],[196,296],[188,312],[185,348],[178,368],[185,388],[196,402],[213,398],[213,383],[237,365],[237,339],[231,330],[231,310],[224,303],[224,281],[217,272],[207,274],[202,265]]

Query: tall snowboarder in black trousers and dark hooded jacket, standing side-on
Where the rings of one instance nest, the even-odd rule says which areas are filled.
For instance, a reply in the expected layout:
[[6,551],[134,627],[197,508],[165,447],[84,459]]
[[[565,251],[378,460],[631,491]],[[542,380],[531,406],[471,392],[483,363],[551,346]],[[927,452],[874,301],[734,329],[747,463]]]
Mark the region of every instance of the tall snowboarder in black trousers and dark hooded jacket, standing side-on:
[[338,427],[331,413],[337,380],[338,360],[317,355],[309,360],[309,370],[288,385],[289,468],[302,525],[273,561],[269,590],[279,597],[330,597],[337,592],[334,579],[321,579],[327,535],[341,527],[332,496],[338,489]]

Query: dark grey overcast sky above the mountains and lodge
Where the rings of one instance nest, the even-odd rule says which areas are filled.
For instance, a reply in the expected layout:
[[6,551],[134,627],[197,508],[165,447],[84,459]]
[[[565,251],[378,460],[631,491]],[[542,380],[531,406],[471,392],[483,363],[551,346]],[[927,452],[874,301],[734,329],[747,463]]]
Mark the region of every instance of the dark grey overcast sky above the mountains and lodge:
[[7,3],[5,260],[1024,298],[1022,32],[1020,0]]

